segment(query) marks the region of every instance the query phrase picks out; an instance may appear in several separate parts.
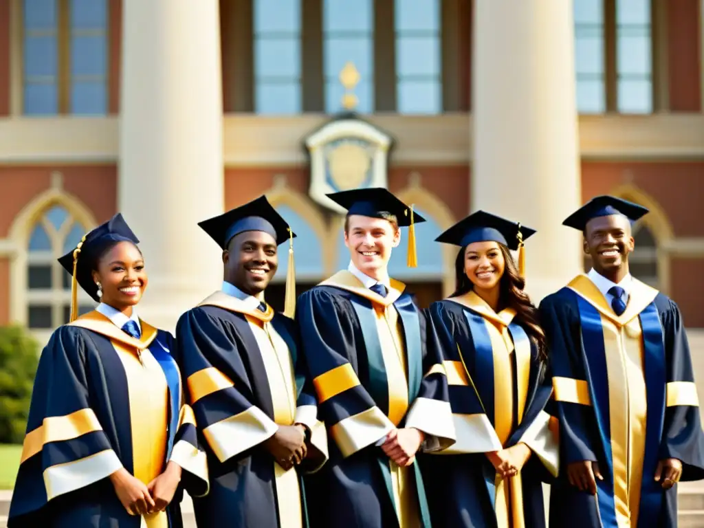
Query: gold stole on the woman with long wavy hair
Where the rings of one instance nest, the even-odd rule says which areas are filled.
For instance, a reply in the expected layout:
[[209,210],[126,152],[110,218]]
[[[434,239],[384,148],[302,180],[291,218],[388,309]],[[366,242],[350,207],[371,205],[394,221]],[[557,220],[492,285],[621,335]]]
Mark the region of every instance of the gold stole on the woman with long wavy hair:
[[[481,297],[469,291],[459,297],[450,299],[470,308],[484,320],[484,327],[491,341],[494,358],[494,429],[502,445],[506,444],[515,428],[513,423],[513,394],[517,389],[517,417],[523,418],[530,381],[530,343],[520,342],[515,346],[508,332],[508,325],[513,322],[516,312],[505,308],[496,313]],[[461,355],[461,351],[460,351]],[[515,355],[517,372],[514,372],[512,356]],[[467,376],[469,373],[467,372]],[[478,372],[477,375],[482,375]],[[496,498],[494,509],[499,527],[523,528],[523,490],[521,474],[502,479],[496,475]]]

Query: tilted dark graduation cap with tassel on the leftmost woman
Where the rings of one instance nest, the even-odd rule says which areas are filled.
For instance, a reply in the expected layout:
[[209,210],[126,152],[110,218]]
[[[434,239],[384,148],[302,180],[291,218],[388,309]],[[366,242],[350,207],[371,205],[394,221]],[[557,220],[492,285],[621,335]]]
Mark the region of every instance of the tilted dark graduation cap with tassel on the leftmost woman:
[[122,215],[117,213],[113,218],[86,234],[77,244],[76,249],[58,259],[58,262],[72,277],[71,321],[74,321],[78,315],[77,286],[80,285],[94,301],[100,301],[98,286],[93,281],[92,274],[96,260],[107,247],[123,241],[139,244],[139,239],[134,235],[130,226],[127,225]]

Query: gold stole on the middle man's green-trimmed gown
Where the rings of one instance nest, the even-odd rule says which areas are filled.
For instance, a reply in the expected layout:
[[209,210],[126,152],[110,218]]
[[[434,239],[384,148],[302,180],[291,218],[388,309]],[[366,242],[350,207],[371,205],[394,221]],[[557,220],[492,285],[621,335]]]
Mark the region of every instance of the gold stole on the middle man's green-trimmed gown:
[[[398,311],[394,307],[394,301],[398,300],[403,290],[406,289],[406,285],[391,279],[389,293],[386,297],[382,297],[365,288],[364,284],[348,270],[337,272],[321,284],[345,289],[372,301],[389,389],[389,413],[387,416],[394,425],[398,425],[406,416],[409,407],[408,367],[406,365],[406,350],[403,346],[404,339],[401,335],[401,325],[398,324]],[[399,526],[401,528],[420,527],[413,467],[399,467],[392,460],[389,460],[389,469],[391,470],[391,489],[394,493],[394,505]]]

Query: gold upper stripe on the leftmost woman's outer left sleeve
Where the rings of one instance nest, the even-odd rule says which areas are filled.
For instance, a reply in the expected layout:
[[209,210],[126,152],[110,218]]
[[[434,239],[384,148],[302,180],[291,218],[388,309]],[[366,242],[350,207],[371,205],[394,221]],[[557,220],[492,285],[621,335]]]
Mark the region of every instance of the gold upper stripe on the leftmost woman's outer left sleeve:
[[46,417],[42,425],[25,436],[20,463],[42,451],[48,442],[71,440],[94,431],[102,431],[102,427],[91,408],[80,409],[65,416]]

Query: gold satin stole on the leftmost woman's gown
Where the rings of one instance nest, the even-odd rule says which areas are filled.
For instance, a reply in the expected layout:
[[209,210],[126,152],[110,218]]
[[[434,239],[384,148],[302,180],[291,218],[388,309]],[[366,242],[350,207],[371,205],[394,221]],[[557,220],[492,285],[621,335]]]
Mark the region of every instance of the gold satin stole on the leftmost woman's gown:
[[[110,339],[125,368],[132,427],[134,477],[149,484],[164,470],[169,415],[168,384],[161,365],[151,355],[149,344],[156,328],[140,320],[142,337],[134,339],[99,312],[93,311],[70,325],[86,328]],[[166,512],[142,517],[142,526],[168,528]]]

